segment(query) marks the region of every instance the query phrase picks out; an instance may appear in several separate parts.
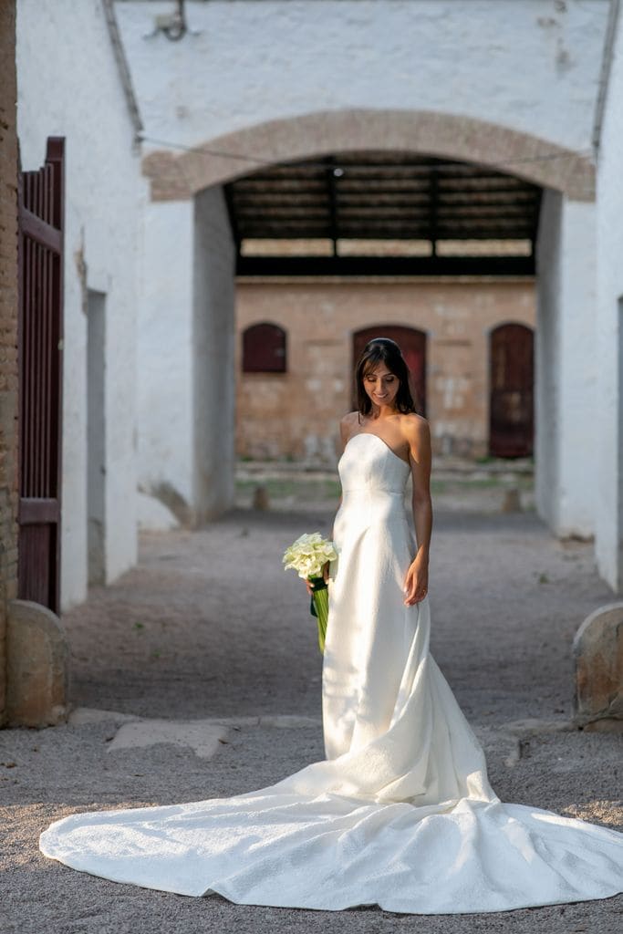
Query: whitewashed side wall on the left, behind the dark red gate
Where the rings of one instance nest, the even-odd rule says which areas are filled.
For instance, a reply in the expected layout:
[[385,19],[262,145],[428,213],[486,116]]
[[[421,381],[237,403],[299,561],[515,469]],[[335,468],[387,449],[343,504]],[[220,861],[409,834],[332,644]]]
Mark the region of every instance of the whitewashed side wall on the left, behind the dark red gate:
[[87,593],[87,290],[106,295],[106,581],[135,563],[135,273],[146,197],[101,0],[19,0],[21,164],[66,139],[62,601]]

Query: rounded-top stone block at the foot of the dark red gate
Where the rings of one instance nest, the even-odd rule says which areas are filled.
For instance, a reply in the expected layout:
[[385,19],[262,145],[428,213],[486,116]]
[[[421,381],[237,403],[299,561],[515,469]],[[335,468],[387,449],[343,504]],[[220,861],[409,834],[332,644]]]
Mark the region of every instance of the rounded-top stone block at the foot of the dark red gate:
[[7,619],[7,722],[50,727],[67,718],[68,645],[61,620],[40,603],[14,600]]

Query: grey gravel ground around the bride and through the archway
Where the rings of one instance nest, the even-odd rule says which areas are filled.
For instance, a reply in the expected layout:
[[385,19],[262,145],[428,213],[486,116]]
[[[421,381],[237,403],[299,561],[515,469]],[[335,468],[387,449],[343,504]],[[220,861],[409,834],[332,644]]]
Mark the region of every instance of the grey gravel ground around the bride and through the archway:
[[[139,566],[64,616],[73,703],[115,713],[0,733],[2,932],[620,934],[621,897],[481,915],[309,912],[151,892],[39,854],[39,832],[64,814],[231,795],[322,757],[314,620],[281,555],[332,520],[310,503],[145,534]],[[573,633],[612,600],[592,545],[555,541],[533,514],[437,511],[432,650],[486,746],[496,791],[623,829],[623,737],[568,729]],[[172,743],[111,750],[122,715],[212,718],[225,740],[210,759]]]

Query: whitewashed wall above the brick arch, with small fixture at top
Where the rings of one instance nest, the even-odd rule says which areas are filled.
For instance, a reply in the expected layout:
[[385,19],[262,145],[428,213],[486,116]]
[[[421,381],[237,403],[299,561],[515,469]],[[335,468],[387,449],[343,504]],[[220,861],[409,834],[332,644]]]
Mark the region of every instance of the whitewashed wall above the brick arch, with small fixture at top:
[[460,114],[590,149],[607,0],[189,0],[178,42],[153,35],[172,8],[116,3],[146,151],[357,107]]

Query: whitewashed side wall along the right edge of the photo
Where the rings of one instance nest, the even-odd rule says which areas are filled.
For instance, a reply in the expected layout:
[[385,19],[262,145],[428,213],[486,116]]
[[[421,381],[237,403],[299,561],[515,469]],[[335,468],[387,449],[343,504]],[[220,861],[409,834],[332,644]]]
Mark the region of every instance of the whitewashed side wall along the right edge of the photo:
[[596,555],[611,587],[623,589],[623,14],[619,13],[597,170],[597,358],[600,439]]

